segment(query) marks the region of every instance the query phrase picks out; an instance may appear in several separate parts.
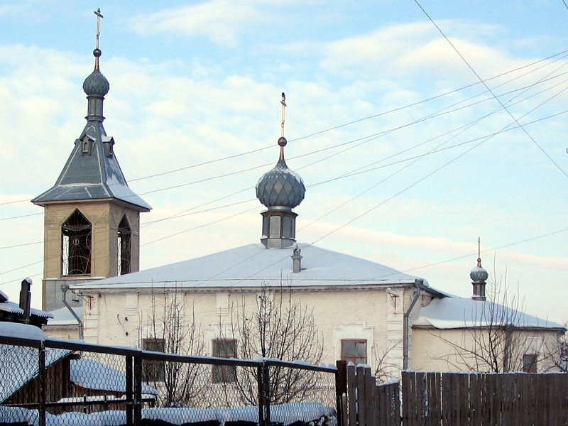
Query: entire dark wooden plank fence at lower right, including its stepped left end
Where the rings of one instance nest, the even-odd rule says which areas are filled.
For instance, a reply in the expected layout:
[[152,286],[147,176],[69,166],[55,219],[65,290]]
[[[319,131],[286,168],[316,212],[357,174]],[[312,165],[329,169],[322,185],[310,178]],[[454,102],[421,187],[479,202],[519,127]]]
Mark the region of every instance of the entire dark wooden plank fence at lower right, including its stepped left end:
[[368,367],[338,368],[346,377],[341,426],[568,425],[567,373],[403,371],[399,388],[376,385]]

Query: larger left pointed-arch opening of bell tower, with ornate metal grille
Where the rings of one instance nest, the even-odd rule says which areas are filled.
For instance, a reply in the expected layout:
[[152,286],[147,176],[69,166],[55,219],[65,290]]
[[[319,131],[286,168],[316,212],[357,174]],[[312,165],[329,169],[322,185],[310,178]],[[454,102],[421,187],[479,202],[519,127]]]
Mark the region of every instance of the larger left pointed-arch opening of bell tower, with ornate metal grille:
[[75,210],[61,225],[61,274],[91,273],[91,223]]

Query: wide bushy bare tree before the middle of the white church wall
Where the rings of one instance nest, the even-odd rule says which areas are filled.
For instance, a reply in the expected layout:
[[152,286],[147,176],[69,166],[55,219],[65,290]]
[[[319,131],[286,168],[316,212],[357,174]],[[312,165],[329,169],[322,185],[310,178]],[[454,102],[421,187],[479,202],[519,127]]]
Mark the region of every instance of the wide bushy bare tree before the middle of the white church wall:
[[[290,289],[263,285],[250,307],[245,296],[231,307],[231,335],[238,342],[243,359],[280,359],[317,364],[322,358],[322,338],[315,324],[313,310],[296,302]],[[305,400],[315,392],[314,371],[272,366],[269,368],[271,403]],[[258,401],[258,371],[239,368],[235,385],[243,403]]]

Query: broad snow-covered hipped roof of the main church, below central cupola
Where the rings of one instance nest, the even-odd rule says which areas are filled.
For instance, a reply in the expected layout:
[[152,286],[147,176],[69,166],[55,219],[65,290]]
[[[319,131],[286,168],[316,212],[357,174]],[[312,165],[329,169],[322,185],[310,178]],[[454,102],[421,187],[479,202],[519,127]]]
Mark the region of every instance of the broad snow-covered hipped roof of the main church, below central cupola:
[[145,288],[178,285],[185,288],[244,288],[266,285],[292,287],[333,285],[395,285],[415,283],[412,275],[337,251],[298,244],[302,271],[292,272],[293,249],[266,249],[250,244],[200,258],[104,280],[75,284],[77,289]]

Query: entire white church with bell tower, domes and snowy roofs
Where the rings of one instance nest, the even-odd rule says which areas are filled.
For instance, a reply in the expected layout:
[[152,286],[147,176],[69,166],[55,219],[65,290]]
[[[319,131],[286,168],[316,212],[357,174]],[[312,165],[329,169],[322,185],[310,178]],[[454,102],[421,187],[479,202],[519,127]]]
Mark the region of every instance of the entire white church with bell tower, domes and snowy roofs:
[[[481,342],[476,332],[501,330],[501,364],[530,371],[551,365],[564,327],[486,300],[481,258],[471,272],[473,297],[463,299],[425,278],[298,241],[293,209],[304,201],[305,185],[285,161],[283,131],[275,167],[256,185],[266,207],[258,221],[260,241],[251,236],[245,246],[138,271],[139,215],[151,207],[130,190],[114,139],[104,130],[109,82],[100,55],[97,45],[94,71],[83,84],[87,124],[55,185],[33,200],[45,209],[43,309],[70,310],[70,288],[67,295],[82,301],[73,312],[86,342],[166,349],[165,339],[151,333],[165,327],[153,312],[156,303],[175,303],[180,324],[197,327],[204,354],[239,357],[236,310],[252,312],[262,297],[285,294],[312,316],[326,363],[370,364],[384,378],[403,368],[491,371],[464,353]],[[281,104],[284,109],[284,96]]]

